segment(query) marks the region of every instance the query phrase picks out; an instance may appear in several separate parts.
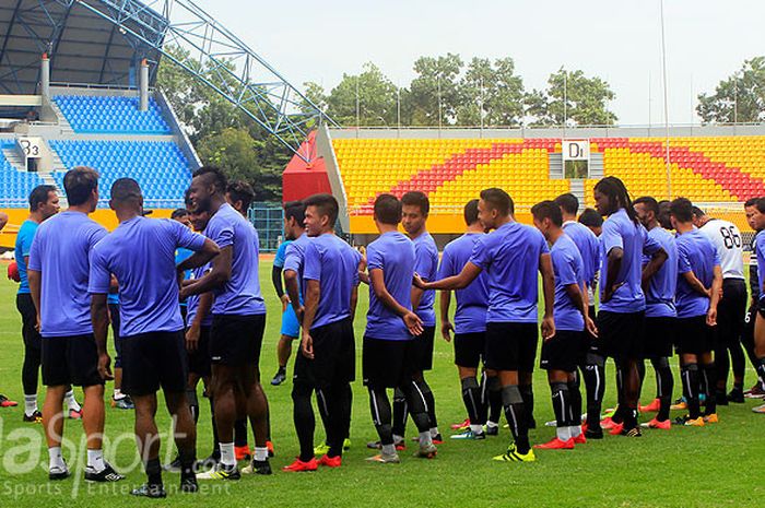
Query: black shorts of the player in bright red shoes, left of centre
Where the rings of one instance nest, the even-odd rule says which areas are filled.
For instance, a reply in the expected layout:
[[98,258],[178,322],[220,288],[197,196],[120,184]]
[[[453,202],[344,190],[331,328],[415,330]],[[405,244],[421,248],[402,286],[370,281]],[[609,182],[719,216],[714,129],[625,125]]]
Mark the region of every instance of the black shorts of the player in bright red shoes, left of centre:
[[314,359],[306,358],[301,351],[295,353],[294,381],[325,388],[356,378],[356,342],[350,318],[314,328],[310,336]]

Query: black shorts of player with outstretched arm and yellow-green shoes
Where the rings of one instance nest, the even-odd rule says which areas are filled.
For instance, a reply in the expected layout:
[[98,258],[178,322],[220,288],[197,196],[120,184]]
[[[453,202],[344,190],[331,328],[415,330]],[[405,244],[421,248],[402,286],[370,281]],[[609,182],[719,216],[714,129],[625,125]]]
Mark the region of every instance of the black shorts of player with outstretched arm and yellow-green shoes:
[[483,355],[486,368],[533,371],[538,342],[539,334],[534,322],[487,323]]

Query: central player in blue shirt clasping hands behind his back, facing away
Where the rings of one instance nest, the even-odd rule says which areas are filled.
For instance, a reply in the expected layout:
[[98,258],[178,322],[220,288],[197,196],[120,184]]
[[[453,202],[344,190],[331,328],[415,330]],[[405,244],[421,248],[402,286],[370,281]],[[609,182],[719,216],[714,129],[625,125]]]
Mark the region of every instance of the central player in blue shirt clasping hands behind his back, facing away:
[[398,463],[397,447],[405,446],[393,441],[388,388],[398,388],[407,400],[420,432],[417,457],[432,458],[437,450],[427,404],[419,381],[412,377],[417,369],[415,335],[423,332],[422,320],[412,311],[414,245],[398,231],[401,202],[395,196],[377,197],[374,218],[380,236],[366,249],[370,291],[362,363],[381,450],[368,460]]

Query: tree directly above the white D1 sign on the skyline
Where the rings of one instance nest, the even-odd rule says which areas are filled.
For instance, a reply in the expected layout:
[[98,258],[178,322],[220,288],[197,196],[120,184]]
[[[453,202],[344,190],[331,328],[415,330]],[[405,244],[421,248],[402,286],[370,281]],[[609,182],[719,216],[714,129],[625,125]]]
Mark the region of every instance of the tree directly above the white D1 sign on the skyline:
[[616,115],[607,103],[615,97],[600,78],[561,68],[548,79],[546,91],[527,95],[526,114],[532,126],[611,126]]

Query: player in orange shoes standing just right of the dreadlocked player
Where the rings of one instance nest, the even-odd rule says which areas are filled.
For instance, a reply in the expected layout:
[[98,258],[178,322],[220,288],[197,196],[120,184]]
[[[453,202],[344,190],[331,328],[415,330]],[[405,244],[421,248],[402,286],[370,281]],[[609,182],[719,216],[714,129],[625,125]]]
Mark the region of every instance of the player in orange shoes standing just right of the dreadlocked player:
[[[643,357],[650,359],[656,373],[656,400],[640,411],[654,411],[654,420],[644,424],[649,428],[669,430],[672,423],[669,420],[672,404],[674,378],[669,365],[674,343],[674,328],[678,312],[674,307],[674,294],[678,287],[678,247],[670,232],[659,224],[659,203],[654,198],[638,198],[633,202],[635,213],[640,224],[648,229],[648,236],[654,238],[664,252],[667,262],[650,279],[646,287],[646,336],[643,343]],[[649,262],[643,258],[644,264]],[[645,285],[644,285],[645,287]],[[645,364],[640,363],[642,377],[645,377]]]

